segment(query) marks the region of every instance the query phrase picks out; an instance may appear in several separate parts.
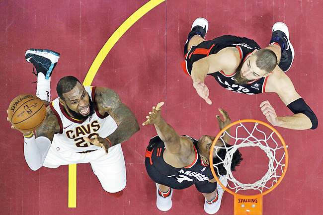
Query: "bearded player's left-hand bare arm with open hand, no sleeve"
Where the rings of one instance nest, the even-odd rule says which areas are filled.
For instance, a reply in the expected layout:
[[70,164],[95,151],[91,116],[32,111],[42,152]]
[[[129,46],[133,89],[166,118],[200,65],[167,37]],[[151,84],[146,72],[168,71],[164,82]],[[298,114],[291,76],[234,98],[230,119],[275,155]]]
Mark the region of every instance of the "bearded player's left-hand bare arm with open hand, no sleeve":
[[209,89],[204,84],[206,75],[218,71],[230,75],[236,72],[239,64],[240,54],[236,47],[227,47],[217,54],[209,55],[194,62],[191,77],[198,95],[208,104],[212,104],[212,101],[209,99]]

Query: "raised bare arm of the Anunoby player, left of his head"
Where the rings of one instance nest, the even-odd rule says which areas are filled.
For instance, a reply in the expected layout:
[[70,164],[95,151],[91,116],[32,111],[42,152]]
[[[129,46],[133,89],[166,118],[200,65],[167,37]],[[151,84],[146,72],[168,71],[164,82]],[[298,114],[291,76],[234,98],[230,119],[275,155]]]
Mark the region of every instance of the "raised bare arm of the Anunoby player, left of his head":
[[[183,167],[183,163],[190,164],[190,157],[194,152],[192,140],[188,137],[181,137],[166,121],[161,117],[161,106],[164,102],[157,104],[153,107],[153,111],[149,112],[147,121],[143,125],[154,124],[158,136],[164,142],[166,151],[164,152],[164,160],[173,167]],[[174,156],[167,156],[167,153]],[[195,153],[194,153],[195,156]],[[175,158],[175,160],[174,160]],[[193,158],[194,159],[194,158]]]

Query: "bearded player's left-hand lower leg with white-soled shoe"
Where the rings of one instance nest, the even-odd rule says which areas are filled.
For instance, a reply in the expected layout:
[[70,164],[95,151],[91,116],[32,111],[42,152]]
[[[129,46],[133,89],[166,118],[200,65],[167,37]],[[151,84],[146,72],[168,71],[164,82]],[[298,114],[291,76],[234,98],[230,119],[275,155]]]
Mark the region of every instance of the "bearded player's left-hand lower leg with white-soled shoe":
[[192,24],[191,31],[188,34],[185,46],[184,54],[189,51],[191,46],[198,45],[205,41],[205,34],[208,31],[209,23],[205,18],[197,18]]

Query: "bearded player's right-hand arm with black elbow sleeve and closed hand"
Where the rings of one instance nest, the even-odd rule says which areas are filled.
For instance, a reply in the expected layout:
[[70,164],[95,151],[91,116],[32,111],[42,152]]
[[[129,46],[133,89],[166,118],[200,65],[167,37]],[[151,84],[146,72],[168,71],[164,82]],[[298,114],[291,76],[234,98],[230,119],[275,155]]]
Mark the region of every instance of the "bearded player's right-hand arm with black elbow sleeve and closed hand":
[[269,75],[265,92],[276,92],[284,104],[294,112],[292,116],[277,116],[269,101],[263,101],[260,104],[261,111],[273,126],[296,130],[317,127],[315,114],[296,92],[290,78],[279,68],[276,67],[274,72]]

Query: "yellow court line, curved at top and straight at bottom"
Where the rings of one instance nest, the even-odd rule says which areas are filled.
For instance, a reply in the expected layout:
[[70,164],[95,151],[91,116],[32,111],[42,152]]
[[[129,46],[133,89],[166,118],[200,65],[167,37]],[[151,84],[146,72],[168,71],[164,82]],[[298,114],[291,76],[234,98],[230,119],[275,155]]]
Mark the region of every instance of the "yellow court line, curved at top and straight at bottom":
[[[94,79],[94,76],[98,69],[100,68],[103,60],[108,55],[112,47],[116,44],[116,42],[120,39],[120,37],[143,15],[145,15],[148,11],[152,10],[154,7],[159,5],[161,2],[165,0],[150,0],[145,5],[140,7],[136,12],[134,12],[129,18],[124,21],[120,27],[111,35],[108,41],[104,44],[100,52],[97,54],[94,59],[90,69],[88,70],[83,85],[90,86]],[[69,197],[68,197],[68,207],[76,208],[76,164],[69,165]]]

